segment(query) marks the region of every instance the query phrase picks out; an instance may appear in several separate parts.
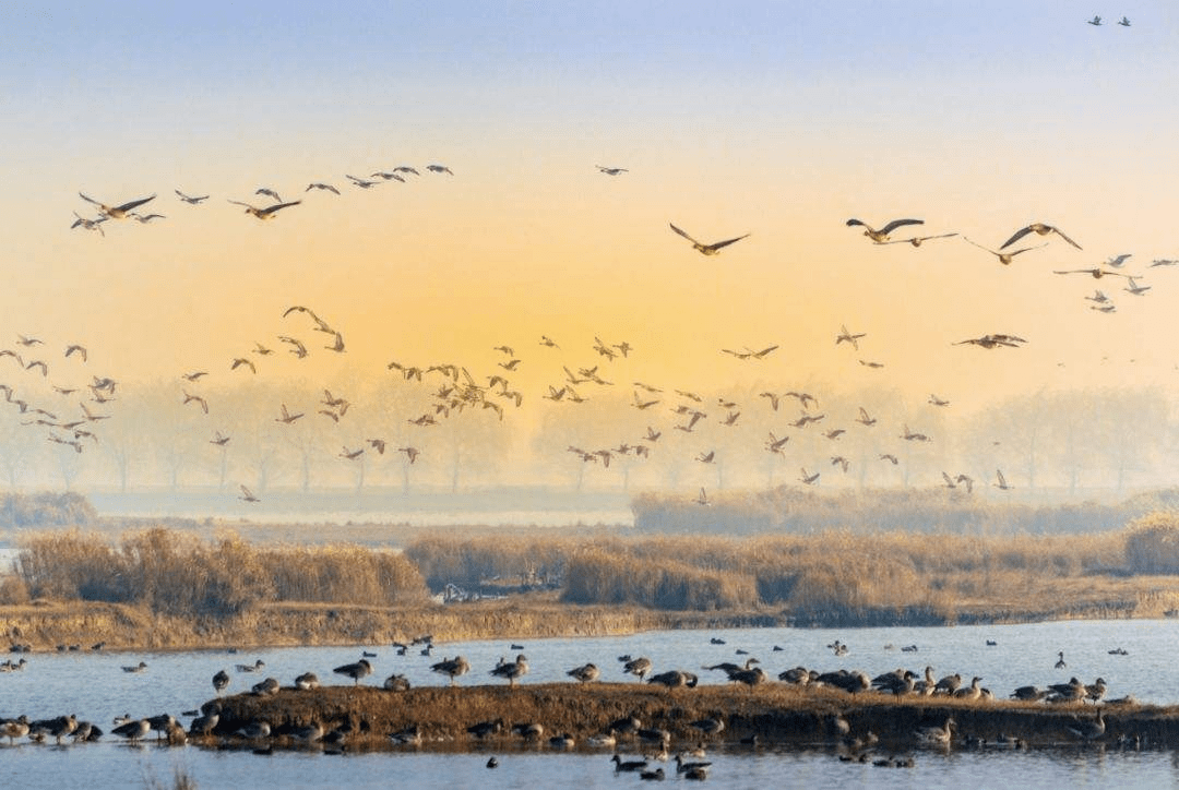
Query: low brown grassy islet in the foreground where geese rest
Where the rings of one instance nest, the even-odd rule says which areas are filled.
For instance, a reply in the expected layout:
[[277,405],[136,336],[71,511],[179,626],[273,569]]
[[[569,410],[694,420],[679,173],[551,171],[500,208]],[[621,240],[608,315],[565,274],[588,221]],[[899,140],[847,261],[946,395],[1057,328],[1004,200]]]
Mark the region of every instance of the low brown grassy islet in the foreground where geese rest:
[[[832,717],[842,715],[852,736],[869,731],[882,749],[915,745],[920,726],[941,725],[947,717],[957,724],[956,740],[969,736],[994,742],[1000,733],[1032,745],[1075,743],[1069,731],[1078,718],[1092,719],[1080,704],[1045,706],[1042,703],[967,702],[948,698],[848,694],[831,689],[801,689],[768,683],[745,686],[700,686],[668,691],[646,684],[544,684],[508,689],[502,685],[423,687],[389,692],[373,686],[331,686],[314,691],[283,689],[272,697],[237,694],[223,700],[216,732],[230,735],[250,720],[270,723],[277,736],[312,723],[325,730],[349,725],[354,746],[388,746],[387,736],[417,729],[426,746],[441,749],[503,749],[523,739],[512,732],[516,724],[544,728],[541,742],[569,733],[586,745],[590,736],[610,729],[612,722],[635,716],[644,728],[664,729],[672,744],[709,742],[737,745],[757,736],[762,745],[838,743]],[[706,718],[720,719],[724,729],[712,736],[692,726]],[[501,722],[502,730],[476,739],[467,728]],[[1152,746],[1179,745],[1179,710],[1146,705],[1106,707],[1107,731],[1101,740],[1139,736]],[[281,738],[279,738],[281,740]],[[289,743],[289,742],[288,742]],[[633,736],[619,738],[620,751],[637,751]],[[648,751],[654,748],[645,746]]]

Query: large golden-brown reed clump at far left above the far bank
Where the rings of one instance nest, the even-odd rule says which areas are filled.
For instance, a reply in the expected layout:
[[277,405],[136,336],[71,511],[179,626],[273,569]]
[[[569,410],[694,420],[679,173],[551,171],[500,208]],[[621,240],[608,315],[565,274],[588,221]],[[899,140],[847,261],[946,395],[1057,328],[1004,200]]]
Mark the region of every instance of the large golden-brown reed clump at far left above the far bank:
[[257,547],[147,529],[116,546],[80,532],[22,541],[15,577],[27,595],[134,604],[173,615],[228,617],[277,601],[420,603],[426,586],[400,554],[355,546]]

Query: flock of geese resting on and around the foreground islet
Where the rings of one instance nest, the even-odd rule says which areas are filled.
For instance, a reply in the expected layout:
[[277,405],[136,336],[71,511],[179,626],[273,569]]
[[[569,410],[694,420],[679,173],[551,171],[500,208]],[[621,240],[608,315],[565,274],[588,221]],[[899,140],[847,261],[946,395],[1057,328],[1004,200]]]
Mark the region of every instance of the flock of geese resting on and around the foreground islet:
[[[711,638],[711,645],[725,645],[725,640],[718,637]],[[988,646],[996,643],[988,640]],[[472,672],[470,663],[462,656],[446,657],[435,660],[433,652],[435,645],[433,637],[423,634],[407,643],[393,643],[393,649],[399,657],[420,654],[429,663],[428,669],[446,678],[449,686],[455,686],[459,678]],[[419,650],[420,647],[420,650]],[[522,651],[523,645],[512,644],[513,650]],[[18,650],[19,649],[19,650]],[[59,647],[65,649],[65,646]],[[95,646],[95,650],[100,646]],[[847,656],[849,647],[847,644],[835,640],[828,649],[837,657]],[[891,645],[885,645],[885,651],[891,650]],[[22,645],[17,645],[13,650],[24,651]],[[916,645],[908,645],[901,649],[905,653],[918,651]],[[413,652],[411,652],[413,651]],[[700,667],[700,672],[719,673],[729,684],[747,686],[750,690],[757,687],[769,687],[775,683],[783,687],[799,690],[801,693],[826,694],[836,703],[836,710],[843,707],[841,699],[857,698],[864,694],[888,696],[898,698],[929,698],[929,700],[954,699],[963,704],[984,705],[994,697],[989,690],[981,685],[983,678],[971,677],[964,682],[960,673],[937,677],[931,666],[926,666],[923,671],[915,672],[907,669],[896,669],[876,677],[869,677],[862,671],[849,671],[839,669],[835,671],[819,672],[803,666],[795,666],[777,673],[777,680],[759,666],[758,658],[750,656],[749,651],[736,650],[736,656],[740,663],[719,661],[706,664]],[[780,653],[784,649],[773,645],[771,652]],[[1112,656],[1125,656],[1126,651],[1114,649],[1108,651]],[[374,674],[374,663],[377,660],[377,652],[362,652],[362,657],[353,663],[336,666],[332,674],[350,680],[354,686],[360,685],[365,678]],[[20,663],[22,667],[24,659]],[[1059,660],[1054,669],[1060,671],[1066,669],[1063,652],[1059,654]],[[134,665],[123,666],[123,671],[129,673],[141,673],[147,665],[139,661]],[[312,720],[310,724],[291,724],[270,720],[268,718],[255,718],[250,720],[222,719],[225,703],[223,694],[235,685],[233,677],[250,677],[264,674],[265,661],[257,659],[252,663],[236,664],[232,667],[218,670],[211,678],[215,698],[204,703],[199,709],[185,711],[183,717],[191,720],[185,728],[180,720],[170,713],[159,713],[145,717],[132,717],[130,715],[117,717],[111,735],[126,740],[141,740],[156,733],[160,742],[172,745],[185,744],[190,738],[197,739],[203,745],[237,745],[250,748],[255,751],[269,753],[275,746],[310,746],[324,750],[342,751],[348,749],[349,742],[363,738],[371,742],[374,737],[382,737],[374,732],[374,728],[363,718],[360,722],[331,726],[330,722]],[[490,678],[506,680],[509,686],[515,686],[525,674],[528,673],[528,659],[519,652],[512,660],[500,658],[500,660],[487,670]],[[606,677],[602,667],[594,663],[586,663],[565,671],[573,682],[580,685],[598,682],[621,683],[627,677],[633,677],[638,683],[647,683],[665,687],[668,693],[692,693],[691,690],[699,685],[700,676],[697,671],[681,669],[670,669],[654,672],[651,659],[643,656],[624,654],[618,657],[618,669],[613,672],[613,680]],[[265,677],[257,683],[245,682],[249,693],[257,697],[270,697],[283,690],[281,682],[275,677]],[[318,689],[321,682],[315,672],[303,672],[294,678],[290,691],[303,692]],[[402,672],[394,672],[384,678],[381,687],[389,692],[404,692],[410,689],[410,682]],[[831,694],[835,694],[831,697]],[[843,698],[848,694],[848,698]],[[1060,706],[1061,710],[1075,709],[1072,718],[1054,719],[1050,725],[1052,732],[1045,732],[1046,737],[1065,739],[1072,738],[1080,742],[1101,742],[1106,737],[1106,719],[1104,709],[1108,706],[1137,705],[1133,697],[1120,699],[1107,698],[1107,684],[1102,678],[1098,678],[1092,684],[1086,684],[1073,677],[1067,683],[1053,683],[1045,686],[1027,685],[1015,689],[1009,698],[1022,703],[1035,704],[1046,703]],[[1081,713],[1088,709],[1092,713]],[[937,716],[937,715],[933,715]],[[936,723],[930,723],[928,717],[922,723],[910,730],[882,731],[874,733],[871,729],[861,726],[861,731],[854,732],[848,718],[839,712],[829,713],[821,717],[816,724],[817,730],[811,733],[818,742],[831,743],[837,746],[839,758],[843,761],[869,762],[882,766],[909,766],[913,765],[911,749],[914,748],[941,748],[949,749],[954,745],[999,746],[999,748],[1027,748],[1026,740],[1019,737],[999,735],[990,740],[971,733],[962,733],[953,716],[942,716]],[[466,726],[475,740],[494,743],[496,738],[519,736],[523,742],[535,745],[546,744],[556,750],[569,749],[602,749],[613,752],[611,762],[618,772],[641,773],[645,779],[664,778],[664,769],[660,762],[668,762],[672,748],[683,750],[674,757],[676,773],[685,779],[705,779],[709,776],[711,763],[702,759],[705,756],[705,743],[713,745],[735,745],[736,740],[730,740],[723,733],[726,732],[726,716],[716,712],[700,719],[691,722],[679,722],[676,725],[677,733],[664,726],[652,723],[644,725],[637,713],[624,716],[612,722],[604,731],[595,735],[574,737],[568,732],[545,737],[545,723],[540,720],[507,723],[502,718],[492,720],[474,722]],[[7,738],[9,744],[18,739],[28,738],[35,743],[54,742],[61,744],[66,738],[72,738],[75,743],[98,740],[104,736],[104,730],[97,724],[81,720],[77,715],[64,715],[45,719],[29,719],[27,716],[0,719],[0,737]],[[805,735],[795,732],[792,736]],[[417,746],[439,738],[447,738],[440,732],[434,732],[429,728],[411,725],[396,732],[387,732],[384,736],[389,744]],[[882,743],[882,740],[884,743]],[[744,746],[758,746],[758,736],[751,735],[742,737],[739,740]],[[887,749],[888,757],[878,753],[874,757],[874,751]],[[1121,736],[1118,739],[1120,746],[1140,746],[1141,739],[1131,736]],[[641,755],[638,759],[624,757],[626,751],[637,751]],[[897,756],[901,752],[909,752]],[[488,768],[499,765],[498,758],[490,758]]]

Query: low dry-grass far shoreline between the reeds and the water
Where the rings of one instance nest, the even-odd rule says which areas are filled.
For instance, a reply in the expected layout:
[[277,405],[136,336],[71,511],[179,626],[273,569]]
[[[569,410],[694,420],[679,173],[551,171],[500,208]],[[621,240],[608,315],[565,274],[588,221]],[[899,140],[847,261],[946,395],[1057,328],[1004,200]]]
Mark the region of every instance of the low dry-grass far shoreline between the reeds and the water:
[[[266,649],[409,643],[421,634],[437,641],[627,636],[644,631],[747,627],[944,627],[1076,619],[1164,619],[1141,601],[1078,604],[1066,610],[963,608],[954,620],[923,608],[865,610],[821,620],[769,610],[663,611],[637,606],[572,605],[554,593],[496,600],[415,606],[271,604],[229,618],[153,614],[143,607],[104,603],[33,601],[0,606],[0,639],[28,652],[106,652]],[[856,614],[856,613],[851,613]],[[2,645],[2,643],[0,643]],[[5,647],[0,646],[0,651]],[[15,651],[14,651],[15,652]]]

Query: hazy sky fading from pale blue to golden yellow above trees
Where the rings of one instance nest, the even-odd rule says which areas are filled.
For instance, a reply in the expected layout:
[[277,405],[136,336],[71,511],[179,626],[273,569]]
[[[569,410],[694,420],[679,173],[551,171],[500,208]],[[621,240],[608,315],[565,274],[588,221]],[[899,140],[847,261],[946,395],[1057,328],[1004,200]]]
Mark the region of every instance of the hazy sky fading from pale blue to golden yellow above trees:
[[[318,343],[283,317],[301,304],[348,351],[259,361],[271,381],[494,369],[508,344],[539,399],[561,378],[548,335],[569,367],[625,340],[623,376],[689,389],[882,384],[984,408],[1179,384],[1179,268],[1150,266],[1179,258],[1172,4],[171,5],[0,8],[0,347],[77,342],[120,381],[229,386],[257,342]],[[397,165],[422,175],[345,178]],[[302,203],[270,222],[228,203],[263,186]],[[165,218],[71,229],[95,216],[79,192],[157,195],[143,209]],[[959,236],[874,245],[851,217]],[[1047,245],[1001,265],[963,241],[997,249],[1032,222],[1084,249],[1032,236]],[[705,257],[670,223],[749,238]],[[1127,252],[1144,296],[1054,274]],[[1096,288],[1117,312],[1091,309]],[[1028,342],[955,345],[992,333]]]

